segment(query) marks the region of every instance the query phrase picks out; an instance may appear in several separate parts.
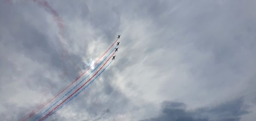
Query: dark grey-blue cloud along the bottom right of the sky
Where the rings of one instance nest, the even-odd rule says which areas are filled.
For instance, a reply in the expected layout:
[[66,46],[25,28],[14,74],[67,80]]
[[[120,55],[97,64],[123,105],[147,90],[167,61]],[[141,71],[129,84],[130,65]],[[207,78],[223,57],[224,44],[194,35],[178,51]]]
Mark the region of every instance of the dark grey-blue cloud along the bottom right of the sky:
[[249,113],[245,108],[244,98],[195,110],[186,109],[181,102],[165,101],[160,115],[143,121],[240,121],[242,115]]

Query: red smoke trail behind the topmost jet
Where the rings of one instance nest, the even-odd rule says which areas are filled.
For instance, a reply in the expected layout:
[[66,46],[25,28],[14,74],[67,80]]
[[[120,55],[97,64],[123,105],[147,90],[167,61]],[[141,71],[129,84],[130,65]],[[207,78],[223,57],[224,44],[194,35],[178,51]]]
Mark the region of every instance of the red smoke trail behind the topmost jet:
[[[116,39],[117,41],[118,39]],[[108,50],[96,61],[96,63],[109,51],[109,49],[111,49],[113,47],[113,45],[116,43],[116,41],[108,48]],[[96,64],[94,63],[93,66]],[[49,101],[47,101],[44,104],[41,104],[37,109],[33,110],[32,112],[30,112],[27,116],[25,116],[24,118],[22,118],[20,121],[26,121],[28,118],[30,118],[31,116],[35,115],[35,113],[37,113],[40,109],[42,109],[44,106],[46,106],[47,104],[49,104],[52,100],[54,100],[55,98],[58,97],[58,95],[60,95],[62,92],[64,92],[67,88],[69,88],[72,84],[74,84],[76,81],[78,81],[79,78],[81,78],[82,75],[84,75],[92,66],[90,66],[87,70],[85,70],[81,75],[79,75],[79,77],[76,78],[75,81],[73,81],[70,85],[68,85],[67,87],[65,87],[63,90],[61,90],[61,92],[59,92],[57,95],[55,95],[52,99],[50,99]]]

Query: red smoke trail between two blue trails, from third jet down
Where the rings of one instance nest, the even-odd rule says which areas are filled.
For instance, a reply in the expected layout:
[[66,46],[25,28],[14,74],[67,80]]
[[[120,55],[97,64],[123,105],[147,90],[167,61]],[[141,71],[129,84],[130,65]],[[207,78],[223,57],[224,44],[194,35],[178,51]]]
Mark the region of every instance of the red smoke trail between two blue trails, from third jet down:
[[[115,54],[116,52],[114,52],[111,57],[108,58],[108,60],[110,58],[112,58],[112,56]],[[87,84],[87,82],[89,82],[96,74],[98,74],[98,72],[103,68],[103,66],[105,66],[106,63],[108,63],[108,60],[100,67],[100,69],[88,80],[86,81],[82,86],[80,86],[78,89],[76,89],[75,92],[73,92],[69,97],[67,97],[64,101],[62,101],[60,104],[58,104],[58,106],[56,106],[54,109],[52,109],[50,112],[47,113],[47,115],[45,115],[43,118],[41,118],[39,121],[43,121],[45,118],[47,118],[49,115],[51,115],[51,113],[57,109],[59,106],[61,106],[61,104],[63,104],[65,101],[67,101],[70,97],[72,97],[77,91],[79,91],[79,89],[81,89],[85,84]]]

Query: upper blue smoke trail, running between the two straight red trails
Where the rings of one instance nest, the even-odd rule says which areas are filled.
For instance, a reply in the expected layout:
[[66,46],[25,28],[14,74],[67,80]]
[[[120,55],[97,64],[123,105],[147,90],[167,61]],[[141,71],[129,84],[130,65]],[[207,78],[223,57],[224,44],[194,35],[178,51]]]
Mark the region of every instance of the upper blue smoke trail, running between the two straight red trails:
[[[117,46],[116,46],[116,47],[117,47]],[[115,48],[116,48],[116,47],[115,47]],[[108,56],[111,55],[111,53],[115,50],[115,48],[108,54]],[[104,58],[104,60],[102,60],[102,62],[100,62],[100,63],[98,64],[98,66],[97,66],[96,68],[94,68],[92,72],[90,72],[90,74],[92,74],[92,73],[108,58],[108,56],[106,56],[106,57]],[[111,61],[111,62],[112,62],[112,61]],[[90,75],[90,74],[89,74],[89,75]],[[82,82],[84,82],[84,80],[85,80],[89,75],[87,75],[82,81],[80,81],[79,84],[81,84]],[[35,118],[35,120],[38,119],[40,116],[44,115],[45,112],[47,112],[49,109],[51,109],[55,104],[57,104],[59,101],[61,101],[61,100],[62,100],[65,96],[67,96],[70,92],[72,92],[73,89],[75,89],[77,86],[79,86],[79,84],[77,84],[76,86],[74,86],[69,92],[67,92],[67,93],[66,93],[65,95],[63,95],[58,101],[56,101],[54,104],[52,104],[47,110],[45,110],[43,113],[41,113],[41,115],[38,115],[38,116]]]

